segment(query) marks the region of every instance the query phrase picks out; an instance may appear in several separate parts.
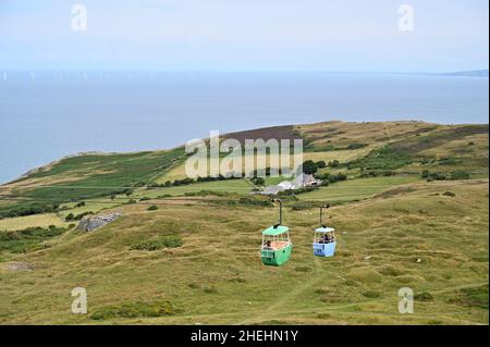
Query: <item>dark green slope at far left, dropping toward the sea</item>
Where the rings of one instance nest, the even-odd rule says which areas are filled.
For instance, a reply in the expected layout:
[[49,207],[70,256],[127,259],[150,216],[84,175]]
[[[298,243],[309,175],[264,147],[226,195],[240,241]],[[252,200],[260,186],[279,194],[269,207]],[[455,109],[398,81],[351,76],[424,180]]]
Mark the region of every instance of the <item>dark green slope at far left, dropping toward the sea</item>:
[[28,206],[59,205],[145,186],[184,157],[182,148],[63,159],[0,187],[0,214]]

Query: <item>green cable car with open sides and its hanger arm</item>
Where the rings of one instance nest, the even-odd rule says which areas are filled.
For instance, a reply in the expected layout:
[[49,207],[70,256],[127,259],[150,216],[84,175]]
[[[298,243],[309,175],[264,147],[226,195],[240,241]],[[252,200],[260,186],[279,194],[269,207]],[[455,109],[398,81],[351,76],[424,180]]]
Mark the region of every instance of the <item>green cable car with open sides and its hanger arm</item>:
[[262,232],[262,246],[260,258],[268,267],[281,267],[291,258],[293,243],[290,238],[290,228],[282,224],[282,202],[279,200],[279,224],[268,227]]

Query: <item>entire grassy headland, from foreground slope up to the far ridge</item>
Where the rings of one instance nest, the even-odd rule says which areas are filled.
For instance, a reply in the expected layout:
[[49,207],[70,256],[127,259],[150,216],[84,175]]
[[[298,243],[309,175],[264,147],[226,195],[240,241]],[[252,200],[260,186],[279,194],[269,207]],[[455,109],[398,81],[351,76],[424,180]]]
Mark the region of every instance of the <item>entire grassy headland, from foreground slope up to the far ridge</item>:
[[[249,181],[149,186],[185,177],[182,148],[77,156],[0,187],[0,323],[488,324],[488,125],[328,122],[234,136],[250,134],[302,137],[305,160],[339,161],[320,175],[348,177],[283,199],[285,267],[260,263],[260,231],[278,210]],[[327,202],[339,249],[319,259],[311,233]],[[123,216],[91,233],[65,221],[100,211]],[[70,312],[77,286],[87,315]],[[397,313],[402,287],[415,314]]]

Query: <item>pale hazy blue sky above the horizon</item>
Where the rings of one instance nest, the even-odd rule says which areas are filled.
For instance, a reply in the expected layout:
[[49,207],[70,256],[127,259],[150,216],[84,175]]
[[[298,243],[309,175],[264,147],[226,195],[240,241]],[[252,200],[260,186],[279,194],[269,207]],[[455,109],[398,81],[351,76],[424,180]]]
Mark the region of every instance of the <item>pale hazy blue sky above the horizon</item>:
[[0,0],[0,70],[486,70],[488,18],[487,0]]

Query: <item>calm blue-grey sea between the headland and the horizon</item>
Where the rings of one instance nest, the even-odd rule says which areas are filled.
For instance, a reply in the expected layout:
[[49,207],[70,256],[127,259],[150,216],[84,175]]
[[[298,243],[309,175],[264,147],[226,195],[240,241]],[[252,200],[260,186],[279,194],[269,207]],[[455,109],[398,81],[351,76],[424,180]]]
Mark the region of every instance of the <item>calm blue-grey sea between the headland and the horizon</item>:
[[0,184],[64,156],[326,121],[488,123],[488,77],[0,71]]

